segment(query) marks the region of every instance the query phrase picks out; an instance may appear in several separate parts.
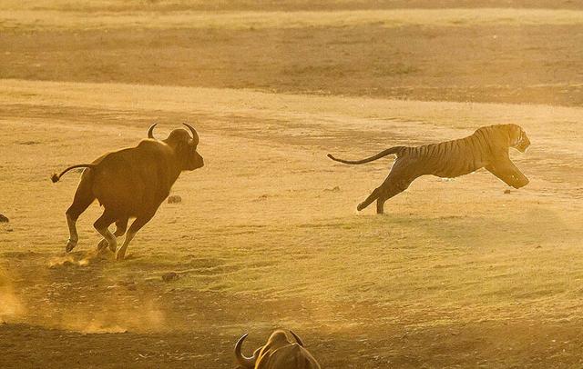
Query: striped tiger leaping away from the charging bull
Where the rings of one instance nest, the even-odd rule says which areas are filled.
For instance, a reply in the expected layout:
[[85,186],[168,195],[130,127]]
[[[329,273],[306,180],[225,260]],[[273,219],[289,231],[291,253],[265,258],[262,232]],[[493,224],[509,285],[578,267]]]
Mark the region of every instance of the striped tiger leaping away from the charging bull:
[[361,165],[396,155],[383,184],[356,207],[360,212],[376,200],[376,213],[384,214],[384,202],[402,193],[422,175],[455,178],[486,168],[506,184],[514,188],[524,187],[528,178],[512,163],[508,148],[526,153],[529,145],[527,133],[520,125],[487,125],[464,138],[414,147],[394,146],[362,160],[343,160],[331,154],[328,157],[344,164]]

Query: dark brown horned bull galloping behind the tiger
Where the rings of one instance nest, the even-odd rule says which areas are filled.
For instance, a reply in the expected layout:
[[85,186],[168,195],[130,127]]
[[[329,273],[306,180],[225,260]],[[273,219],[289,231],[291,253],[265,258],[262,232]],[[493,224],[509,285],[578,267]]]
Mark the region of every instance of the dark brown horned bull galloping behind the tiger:
[[[148,131],[150,137],[153,137],[154,126]],[[189,131],[175,129],[165,140],[143,140],[136,147],[107,153],[89,165],[73,165],[60,175],[52,176],[53,182],[57,182],[61,175],[73,168],[87,168],[81,175],[73,204],[66,210],[70,233],[66,252],[77,245],[77,218],[97,199],[104,207],[103,214],[94,224],[104,237],[99,248],[109,246],[115,252],[116,237],[126,233],[129,218],[136,218],[118,251],[118,259],[124,258],[129,242],[156,214],[180,173],[204,165],[197,152],[199,135],[190,125],[187,127],[192,136]],[[117,230],[111,234],[107,227],[113,223],[116,223]]]

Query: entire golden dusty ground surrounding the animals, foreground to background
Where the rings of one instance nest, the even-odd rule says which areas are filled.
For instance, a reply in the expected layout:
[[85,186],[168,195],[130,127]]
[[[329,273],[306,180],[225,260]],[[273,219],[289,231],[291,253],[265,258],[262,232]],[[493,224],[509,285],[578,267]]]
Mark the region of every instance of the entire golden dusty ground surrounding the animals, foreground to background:
[[[324,368],[583,365],[583,11],[407,4],[3,2],[0,367],[234,368],[279,326]],[[65,254],[79,175],[49,176],[185,121],[182,203],[123,263],[93,204]],[[325,157],[507,122],[532,141],[509,194],[426,177],[357,213],[392,159]]]

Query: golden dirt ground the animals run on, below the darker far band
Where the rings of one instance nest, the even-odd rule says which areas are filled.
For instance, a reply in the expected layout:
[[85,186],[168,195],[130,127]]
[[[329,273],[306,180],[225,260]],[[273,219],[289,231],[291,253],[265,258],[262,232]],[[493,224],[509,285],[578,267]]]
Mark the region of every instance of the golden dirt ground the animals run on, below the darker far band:
[[[4,85],[10,170],[1,190],[14,232],[0,232],[0,260],[22,312],[3,315],[8,364],[35,344],[28,362],[49,367],[233,367],[242,332],[260,344],[276,326],[299,331],[325,367],[581,360],[580,109]],[[179,179],[183,203],[162,205],[124,263],[94,254],[94,204],[80,219],[78,251],[63,254],[62,214],[77,179],[51,184],[48,175],[134,145],[154,120],[159,135],[183,120],[199,128],[208,165]],[[507,120],[533,141],[527,155],[513,155],[531,184],[510,194],[483,172],[424,178],[391,200],[387,215],[356,214],[391,160],[349,167],[325,157]],[[165,282],[169,273],[179,278]]]

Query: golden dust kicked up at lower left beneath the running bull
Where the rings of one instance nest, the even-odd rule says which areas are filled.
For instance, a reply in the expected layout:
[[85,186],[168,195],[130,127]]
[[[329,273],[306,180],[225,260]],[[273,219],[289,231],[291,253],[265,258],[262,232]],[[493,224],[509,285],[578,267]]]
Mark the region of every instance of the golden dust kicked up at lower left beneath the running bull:
[[[77,257],[70,254],[56,256],[49,260],[46,268],[86,268],[96,257],[97,254],[91,253]],[[0,269],[0,324],[25,323],[83,334],[152,332],[163,327],[165,315],[149,296],[140,296],[135,291],[125,290],[119,294],[99,296],[94,294],[92,287],[87,286],[74,290],[77,294],[93,295],[87,304],[81,304],[72,296],[55,294],[51,284],[45,281],[42,266],[39,265],[39,268],[41,269],[36,278],[26,284],[16,284],[14,274]],[[26,293],[34,286],[41,287],[35,294]],[[18,291],[23,293],[19,294]],[[40,298],[41,295],[51,297]]]

